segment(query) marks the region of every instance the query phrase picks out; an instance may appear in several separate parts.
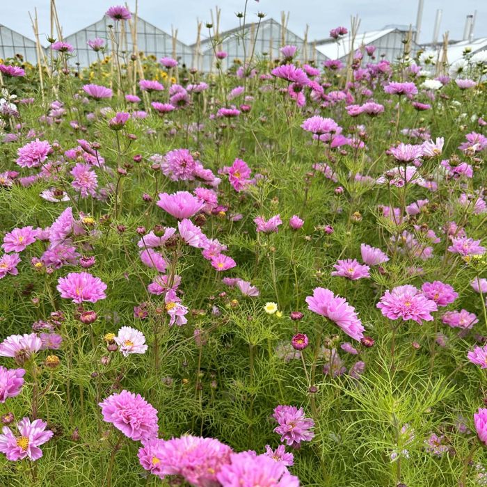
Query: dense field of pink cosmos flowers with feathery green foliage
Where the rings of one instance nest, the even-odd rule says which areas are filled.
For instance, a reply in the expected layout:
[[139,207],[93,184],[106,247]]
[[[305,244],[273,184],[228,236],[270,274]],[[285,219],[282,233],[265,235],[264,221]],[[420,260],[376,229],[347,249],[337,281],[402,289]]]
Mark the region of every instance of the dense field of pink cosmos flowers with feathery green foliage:
[[0,485],[487,485],[485,52],[51,41],[0,63]]

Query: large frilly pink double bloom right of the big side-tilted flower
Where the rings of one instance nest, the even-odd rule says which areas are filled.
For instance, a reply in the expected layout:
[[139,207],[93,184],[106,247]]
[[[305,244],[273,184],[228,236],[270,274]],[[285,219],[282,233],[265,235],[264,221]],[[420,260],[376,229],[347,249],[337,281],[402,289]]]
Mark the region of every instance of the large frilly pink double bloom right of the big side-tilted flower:
[[392,291],[386,291],[377,303],[377,308],[389,319],[412,319],[420,325],[422,320],[432,321],[433,316],[430,313],[438,310],[434,301],[426,298],[411,285],[398,286]]

